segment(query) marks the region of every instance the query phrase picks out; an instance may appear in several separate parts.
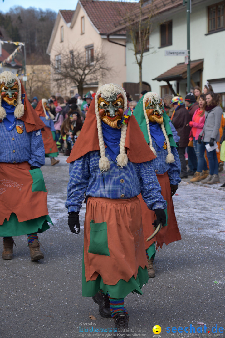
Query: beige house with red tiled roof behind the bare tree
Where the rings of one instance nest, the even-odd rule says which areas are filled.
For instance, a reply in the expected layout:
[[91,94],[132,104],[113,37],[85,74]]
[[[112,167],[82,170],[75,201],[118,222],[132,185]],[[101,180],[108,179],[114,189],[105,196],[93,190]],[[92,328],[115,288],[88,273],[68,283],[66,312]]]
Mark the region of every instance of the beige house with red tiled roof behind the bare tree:
[[[69,55],[74,50],[85,52],[86,62],[93,62],[95,53],[100,51],[110,68],[105,76],[99,73],[97,81],[84,83],[83,94],[90,90],[96,92],[104,83],[114,82],[122,86],[126,82],[126,32],[108,36],[115,21],[119,20],[117,6],[120,3],[116,1],[80,0],[74,11],[60,10],[58,13],[47,48],[51,64],[60,67],[62,53],[68,52]],[[72,97],[78,91],[72,81],[65,81],[58,88],[52,69],[51,92]]]

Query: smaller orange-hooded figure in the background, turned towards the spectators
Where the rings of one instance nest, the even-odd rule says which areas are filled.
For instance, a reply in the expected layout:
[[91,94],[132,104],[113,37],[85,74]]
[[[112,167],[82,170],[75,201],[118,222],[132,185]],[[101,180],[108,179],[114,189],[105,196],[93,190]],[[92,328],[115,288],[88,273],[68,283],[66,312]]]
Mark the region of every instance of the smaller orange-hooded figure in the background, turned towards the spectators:
[[47,103],[48,101],[46,99],[41,99],[35,108],[35,112],[45,124],[44,128],[41,129],[45,157],[49,157],[51,160],[51,166],[54,166],[55,164],[59,163],[59,160],[55,159],[55,157],[58,156],[58,148],[55,141],[56,129],[53,122],[55,116],[50,113],[50,108]]

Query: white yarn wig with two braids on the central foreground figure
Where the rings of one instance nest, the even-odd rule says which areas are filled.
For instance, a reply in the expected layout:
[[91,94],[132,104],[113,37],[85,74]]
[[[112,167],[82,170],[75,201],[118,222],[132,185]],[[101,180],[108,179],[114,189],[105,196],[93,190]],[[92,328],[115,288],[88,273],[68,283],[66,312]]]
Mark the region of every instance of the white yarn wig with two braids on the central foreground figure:
[[[99,116],[98,112],[98,95],[101,94],[101,97],[106,101],[109,100],[109,97],[115,94],[122,94],[124,99],[124,112],[127,110],[127,97],[125,90],[116,83],[106,83],[102,87],[99,88],[97,93],[95,94],[95,114],[97,119],[97,128],[98,128],[98,140],[99,140],[99,148],[100,148],[100,159],[99,159],[99,168],[101,171],[107,171],[110,169],[110,162],[105,156],[105,145],[103,141],[102,135],[102,120]],[[121,168],[126,167],[128,162],[128,157],[126,154],[126,149],[124,147],[127,133],[127,125],[122,124],[121,127],[121,138],[120,138],[120,153],[116,158],[117,165]]]

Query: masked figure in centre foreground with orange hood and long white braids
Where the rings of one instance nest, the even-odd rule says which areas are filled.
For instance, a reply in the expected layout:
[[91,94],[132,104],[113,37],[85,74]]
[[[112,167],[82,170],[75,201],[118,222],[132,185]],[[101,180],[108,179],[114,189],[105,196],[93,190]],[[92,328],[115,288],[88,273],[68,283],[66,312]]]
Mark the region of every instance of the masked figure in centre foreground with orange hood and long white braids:
[[79,233],[79,210],[87,197],[82,294],[94,299],[102,317],[128,327],[124,297],[142,294],[148,281],[140,193],[157,222],[165,223],[166,202],[153,170],[155,155],[144,140],[126,93],[105,84],[96,93],[71,154],[65,206],[68,225]]

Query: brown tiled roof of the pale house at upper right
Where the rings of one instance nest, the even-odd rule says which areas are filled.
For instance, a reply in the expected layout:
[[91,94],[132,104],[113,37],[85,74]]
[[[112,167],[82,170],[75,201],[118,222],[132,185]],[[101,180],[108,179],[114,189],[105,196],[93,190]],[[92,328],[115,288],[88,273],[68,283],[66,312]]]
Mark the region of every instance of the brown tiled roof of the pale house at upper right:
[[[153,13],[153,15],[158,16],[170,9],[179,7],[181,5],[183,5],[183,0],[155,0],[153,3],[151,0],[144,1],[142,5],[142,20],[149,18],[150,11]],[[132,19],[132,24],[135,24],[139,20],[139,6],[138,4],[136,4],[136,6],[137,7],[135,8],[135,10],[132,9],[132,14],[130,15],[130,18]],[[116,26],[116,28],[114,27],[110,31],[110,34],[116,33],[121,29],[125,29],[126,27],[126,20],[120,20],[120,23]]]

